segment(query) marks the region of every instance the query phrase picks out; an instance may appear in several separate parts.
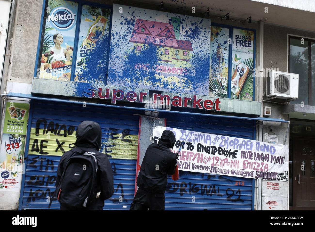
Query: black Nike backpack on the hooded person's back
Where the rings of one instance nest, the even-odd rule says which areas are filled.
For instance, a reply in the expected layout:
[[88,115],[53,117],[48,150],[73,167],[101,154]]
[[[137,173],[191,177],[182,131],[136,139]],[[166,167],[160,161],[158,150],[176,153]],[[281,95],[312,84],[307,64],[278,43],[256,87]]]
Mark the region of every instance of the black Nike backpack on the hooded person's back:
[[94,183],[97,172],[95,152],[72,155],[57,186],[57,199],[61,204],[82,209],[96,197]]

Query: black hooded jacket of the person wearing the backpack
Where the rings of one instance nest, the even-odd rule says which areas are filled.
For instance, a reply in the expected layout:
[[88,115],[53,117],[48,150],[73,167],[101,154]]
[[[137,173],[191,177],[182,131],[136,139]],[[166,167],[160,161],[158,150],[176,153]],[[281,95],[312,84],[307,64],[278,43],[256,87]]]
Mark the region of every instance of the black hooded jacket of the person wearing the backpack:
[[60,177],[64,171],[68,159],[78,153],[95,152],[97,159],[97,174],[95,181],[95,192],[101,192],[100,197],[95,199],[88,209],[101,209],[104,206],[104,200],[110,198],[114,193],[113,170],[107,156],[99,152],[101,147],[102,130],[97,122],[84,121],[77,128],[77,147],[65,152],[59,162],[56,185],[58,186]]

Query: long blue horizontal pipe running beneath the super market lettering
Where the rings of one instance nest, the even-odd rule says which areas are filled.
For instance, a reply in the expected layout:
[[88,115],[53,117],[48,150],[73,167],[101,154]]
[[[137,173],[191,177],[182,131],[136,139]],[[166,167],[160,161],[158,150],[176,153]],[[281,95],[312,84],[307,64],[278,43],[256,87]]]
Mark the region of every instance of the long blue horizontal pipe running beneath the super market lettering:
[[[1,94],[2,96],[3,94]],[[7,97],[14,97],[14,98],[29,98],[29,99],[36,99],[36,100],[43,100],[43,101],[55,101],[55,102],[64,102],[64,103],[74,103],[74,104],[82,104],[82,102],[77,101],[69,101],[63,100],[60,98],[42,98],[42,97],[35,97],[31,94],[24,94],[24,93],[7,93]],[[261,118],[261,117],[241,117],[241,116],[227,116],[227,115],[216,115],[216,114],[201,114],[201,113],[192,113],[192,112],[182,112],[182,111],[172,111],[172,110],[159,110],[159,109],[146,109],[140,107],[131,107],[131,106],[120,106],[120,105],[108,105],[108,104],[98,104],[98,103],[86,103],[88,105],[95,105],[95,106],[104,106],[104,107],[111,107],[111,108],[124,108],[129,110],[147,110],[147,111],[158,111],[158,112],[168,112],[173,114],[187,114],[187,115],[198,115],[198,116],[209,116],[209,117],[219,117],[219,118],[235,118],[235,119],[243,119],[243,120],[254,120],[254,121],[269,121],[269,122],[286,122],[289,121],[280,120],[277,118]]]

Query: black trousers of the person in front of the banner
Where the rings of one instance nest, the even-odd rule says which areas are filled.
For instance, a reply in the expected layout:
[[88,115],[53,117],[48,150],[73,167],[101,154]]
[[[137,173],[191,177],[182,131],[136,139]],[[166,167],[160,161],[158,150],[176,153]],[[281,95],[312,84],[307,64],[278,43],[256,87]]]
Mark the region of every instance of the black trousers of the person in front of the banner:
[[164,193],[149,193],[138,188],[129,210],[165,210]]

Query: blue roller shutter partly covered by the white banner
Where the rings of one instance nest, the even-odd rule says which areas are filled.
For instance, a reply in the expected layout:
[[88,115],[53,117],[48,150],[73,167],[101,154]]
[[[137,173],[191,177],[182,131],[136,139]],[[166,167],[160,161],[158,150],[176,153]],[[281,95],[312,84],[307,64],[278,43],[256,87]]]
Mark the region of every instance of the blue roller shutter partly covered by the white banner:
[[[166,126],[210,134],[255,139],[255,122],[163,113]],[[179,172],[179,180],[168,177],[166,210],[252,210],[254,179],[226,175]]]

